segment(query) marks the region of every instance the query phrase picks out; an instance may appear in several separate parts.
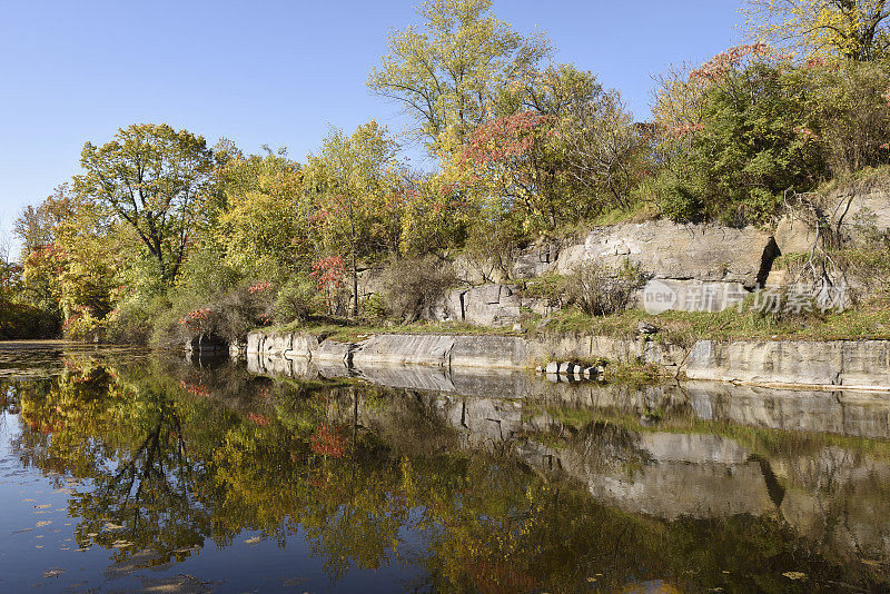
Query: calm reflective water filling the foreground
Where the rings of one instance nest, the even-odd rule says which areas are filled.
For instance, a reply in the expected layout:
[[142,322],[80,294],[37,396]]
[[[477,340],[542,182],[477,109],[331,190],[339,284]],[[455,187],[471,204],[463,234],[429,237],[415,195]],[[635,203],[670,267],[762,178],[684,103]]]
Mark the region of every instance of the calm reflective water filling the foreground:
[[0,345],[0,591],[890,588],[883,396],[345,375]]

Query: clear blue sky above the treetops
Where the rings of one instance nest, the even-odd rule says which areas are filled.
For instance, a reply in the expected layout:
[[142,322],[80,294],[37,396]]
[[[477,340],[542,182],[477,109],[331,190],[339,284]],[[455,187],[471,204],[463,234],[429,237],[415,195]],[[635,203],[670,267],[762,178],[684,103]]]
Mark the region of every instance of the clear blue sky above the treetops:
[[[301,160],[328,126],[398,131],[368,72],[419,0],[0,0],[0,240],[27,204],[78,171],[83,142],[167,122],[246,152]],[[650,113],[652,75],[740,40],[740,0],[495,0],[556,61],[591,70]]]

